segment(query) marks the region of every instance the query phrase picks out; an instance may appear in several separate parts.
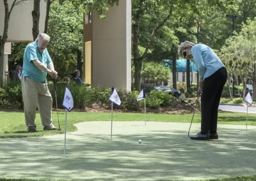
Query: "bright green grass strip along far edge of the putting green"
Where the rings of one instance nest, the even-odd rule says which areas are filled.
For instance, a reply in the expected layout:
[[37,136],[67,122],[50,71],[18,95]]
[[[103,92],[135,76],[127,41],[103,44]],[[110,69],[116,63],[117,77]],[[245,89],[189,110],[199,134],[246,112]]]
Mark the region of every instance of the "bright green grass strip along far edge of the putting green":
[[[143,121],[144,113],[113,112],[113,121]],[[147,121],[159,122],[191,122],[193,114],[147,113]],[[44,136],[64,133],[65,112],[59,112],[62,131],[43,131],[39,113],[36,113],[36,133],[28,133],[23,112],[0,112],[0,138]],[[195,113],[193,123],[200,123],[200,113]],[[218,124],[246,124],[246,113],[221,112]],[[52,112],[54,125],[58,126],[57,112]],[[76,131],[74,124],[84,121],[110,121],[111,112],[67,112],[67,131]],[[248,125],[256,126],[255,114],[248,114]]]

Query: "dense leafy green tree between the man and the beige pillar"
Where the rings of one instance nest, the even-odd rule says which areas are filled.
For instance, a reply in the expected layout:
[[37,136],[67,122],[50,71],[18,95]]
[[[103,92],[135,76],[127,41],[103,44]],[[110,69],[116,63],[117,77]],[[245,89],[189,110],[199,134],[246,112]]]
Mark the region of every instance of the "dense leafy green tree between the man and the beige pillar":
[[51,42],[47,49],[59,76],[81,68],[77,52],[83,53],[83,12],[83,6],[74,6],[69,1],[51,5],[48,27]]

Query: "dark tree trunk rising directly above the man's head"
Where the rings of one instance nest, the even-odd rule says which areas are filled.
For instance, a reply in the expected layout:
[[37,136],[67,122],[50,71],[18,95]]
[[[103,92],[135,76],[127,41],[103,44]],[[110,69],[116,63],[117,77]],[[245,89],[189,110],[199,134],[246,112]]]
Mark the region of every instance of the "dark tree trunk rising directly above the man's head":
[[34,10],[32,11],[33,27],[32,34],[35,41],[39,34],[39,20],[40,20],[40,0],[34,0]]

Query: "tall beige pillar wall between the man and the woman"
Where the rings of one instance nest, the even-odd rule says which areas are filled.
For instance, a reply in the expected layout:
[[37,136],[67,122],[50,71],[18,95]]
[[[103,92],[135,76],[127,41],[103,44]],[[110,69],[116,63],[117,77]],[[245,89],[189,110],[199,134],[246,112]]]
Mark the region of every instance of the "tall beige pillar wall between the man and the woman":
[[93,11],[86,26],[84,40],[92,40],[92,85],[131,91],[131,1],[109,7],[104,20]]

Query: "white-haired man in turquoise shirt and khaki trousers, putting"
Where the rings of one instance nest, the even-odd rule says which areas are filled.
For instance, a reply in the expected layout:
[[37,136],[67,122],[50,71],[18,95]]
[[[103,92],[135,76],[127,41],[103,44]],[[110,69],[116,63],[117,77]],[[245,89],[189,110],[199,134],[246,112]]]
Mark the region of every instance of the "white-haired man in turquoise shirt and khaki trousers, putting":
[[52,97],[46,79],[47,73],[52,78],[58,75],[46,48],[49,41],[50,37],[47,34],[40,33],[36,41],[29,43],[24,52],[21,84],[24,114],[29,133],[36,132],[36,106],[40,112],[44,131],[58,130],[52,124]]

